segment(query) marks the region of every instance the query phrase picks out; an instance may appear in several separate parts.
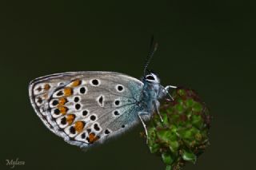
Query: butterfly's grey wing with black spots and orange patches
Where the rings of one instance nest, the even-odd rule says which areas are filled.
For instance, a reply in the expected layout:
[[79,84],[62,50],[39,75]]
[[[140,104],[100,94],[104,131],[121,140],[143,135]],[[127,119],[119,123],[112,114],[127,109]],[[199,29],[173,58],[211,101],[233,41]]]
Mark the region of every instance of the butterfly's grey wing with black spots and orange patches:
[[101,143],[138,122],[143,83],[114,72],[58,73],[30,82],[38,117],[66,142]]

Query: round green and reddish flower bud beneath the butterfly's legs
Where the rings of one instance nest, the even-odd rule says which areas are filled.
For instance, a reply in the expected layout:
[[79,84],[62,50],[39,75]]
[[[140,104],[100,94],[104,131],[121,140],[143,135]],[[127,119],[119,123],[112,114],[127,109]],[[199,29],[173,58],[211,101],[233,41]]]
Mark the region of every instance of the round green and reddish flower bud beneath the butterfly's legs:
[[191,89],[174,89],[174,101],[163,101],[149,125],[148,146],[162,156],[167,169],[181,169],[186,162],[195,164],[209,143],[210,114],[198,94]]

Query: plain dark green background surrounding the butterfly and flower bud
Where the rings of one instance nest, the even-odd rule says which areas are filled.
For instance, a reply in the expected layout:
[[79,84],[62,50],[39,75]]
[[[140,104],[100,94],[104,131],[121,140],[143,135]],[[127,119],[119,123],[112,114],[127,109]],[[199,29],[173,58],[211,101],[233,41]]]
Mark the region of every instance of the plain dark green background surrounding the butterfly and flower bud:
[[213,116],[210,147],[184,169],[256,169],[255,4],[234,0],[2,1],[1,169],[164,169],[142,125],[88,152],[51,133],[30,106],[28,84],[50,73],[109,70],[198,91]]

